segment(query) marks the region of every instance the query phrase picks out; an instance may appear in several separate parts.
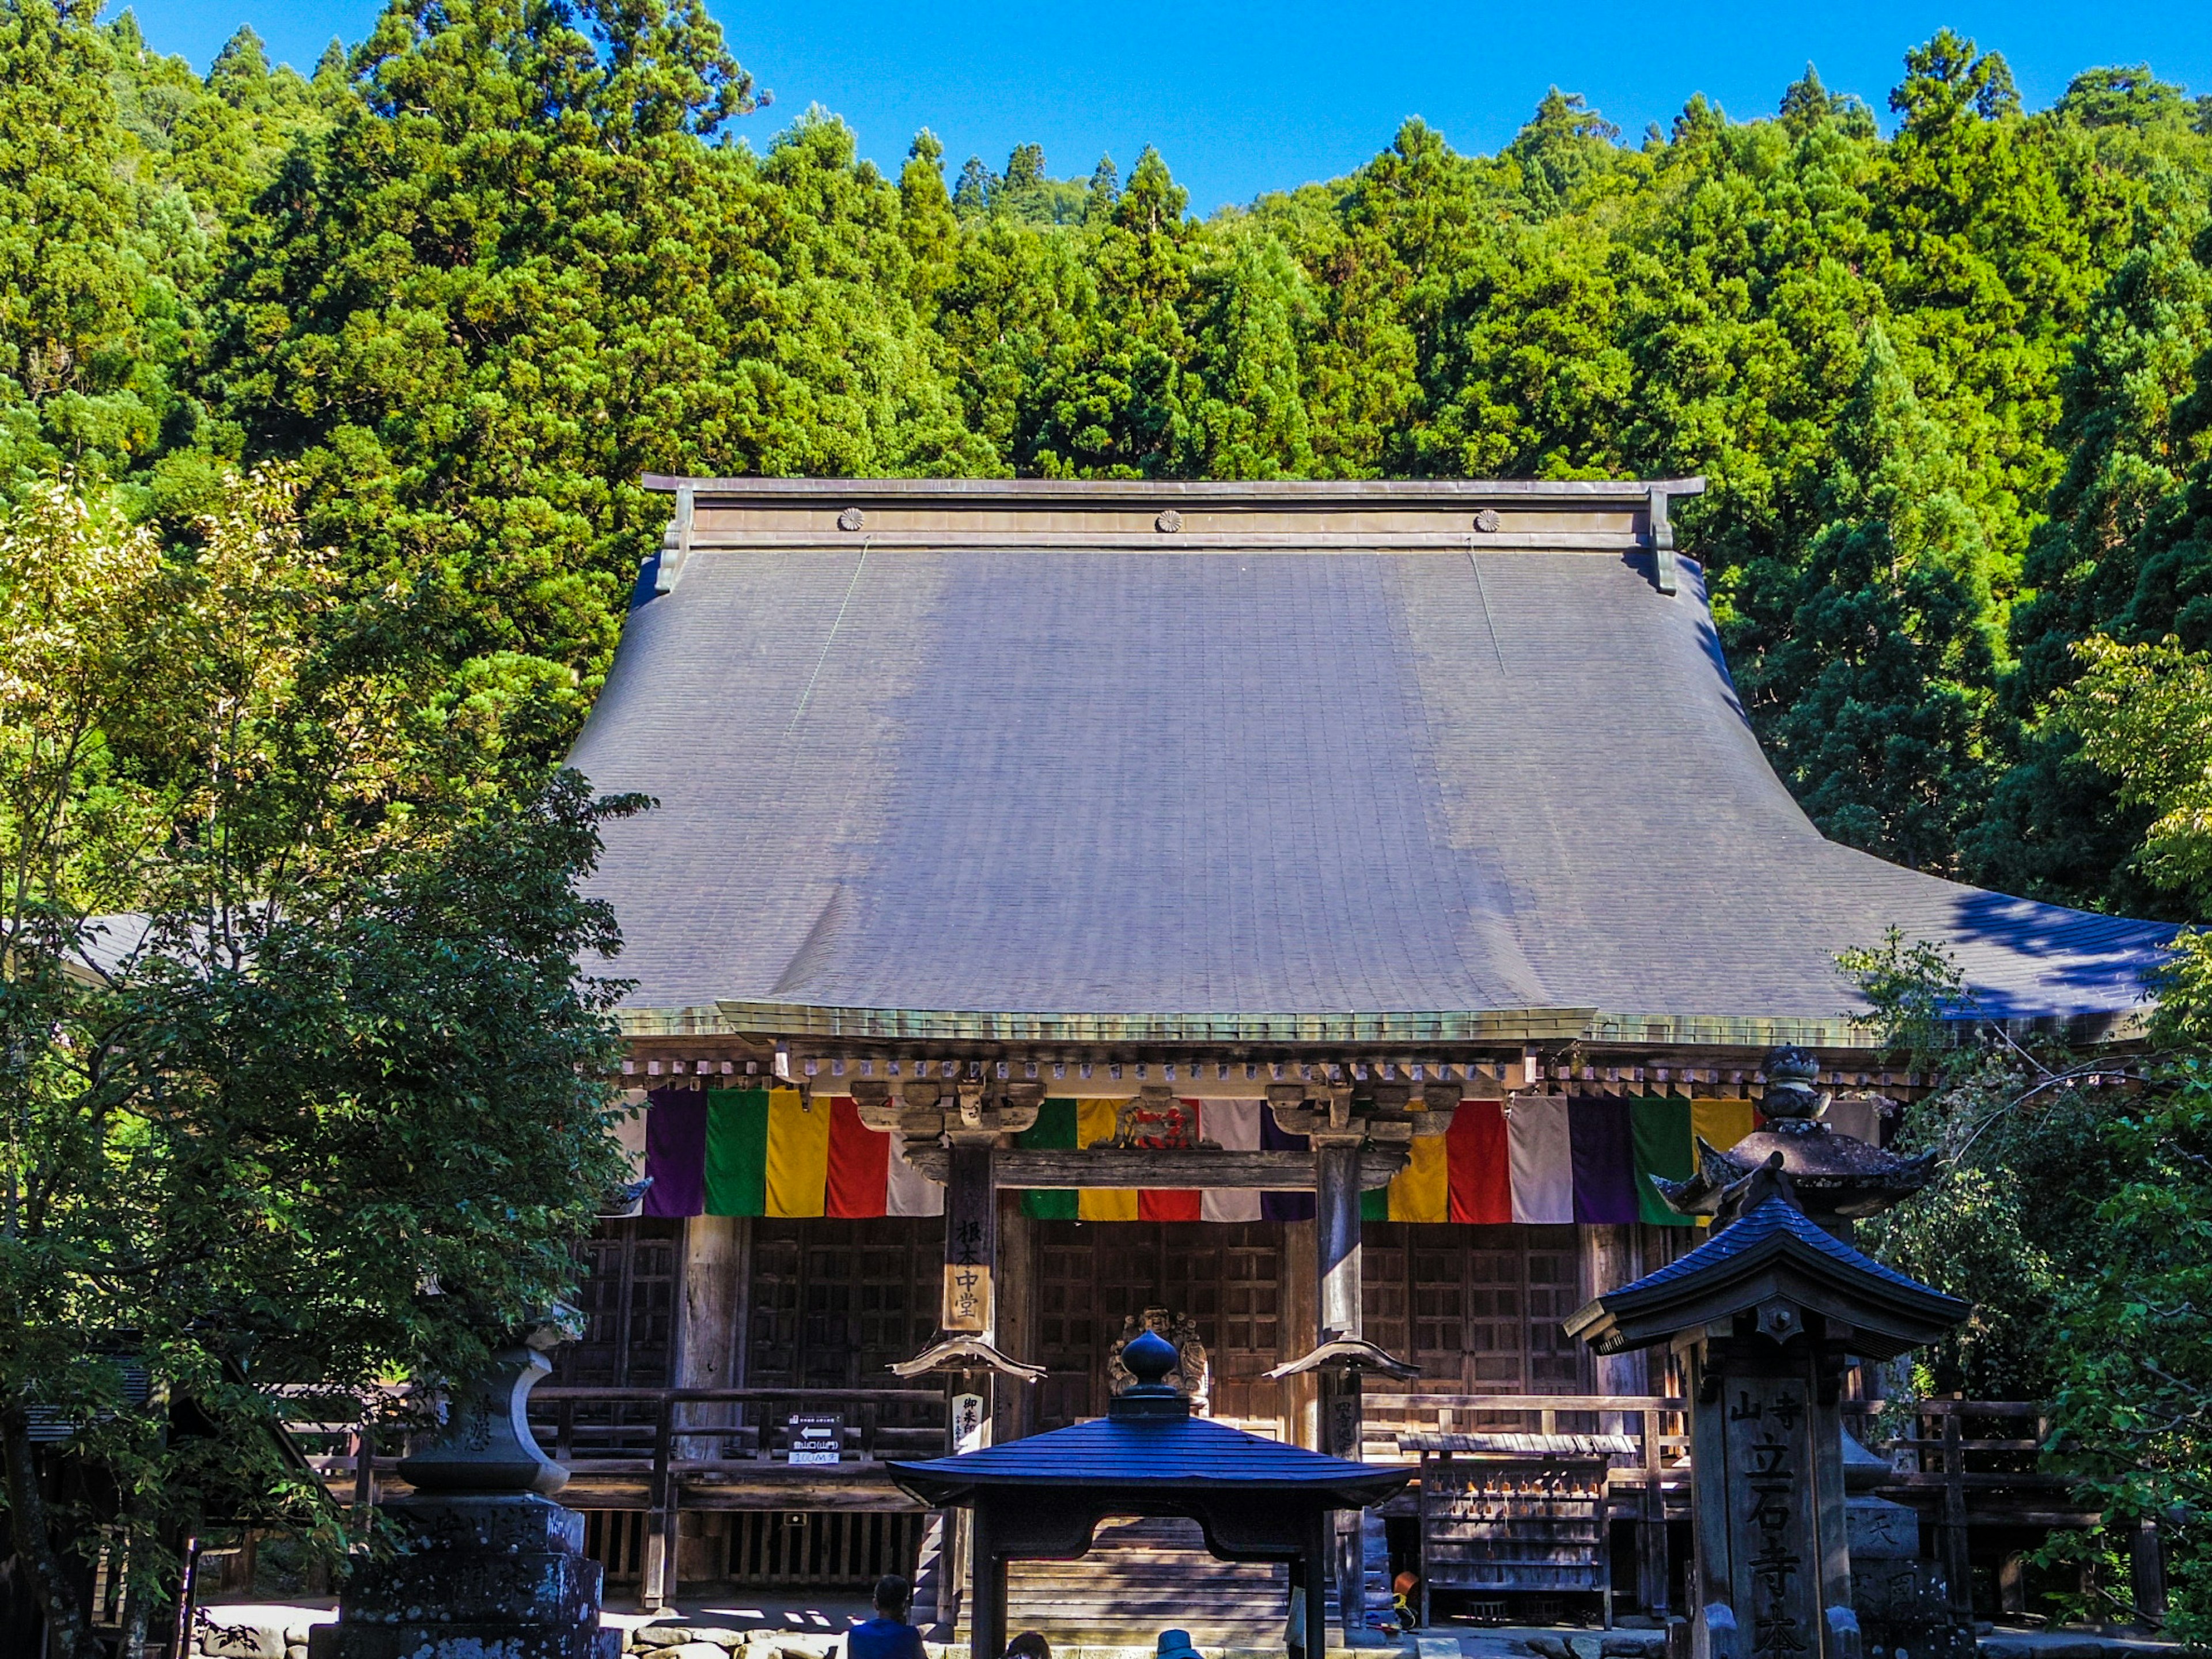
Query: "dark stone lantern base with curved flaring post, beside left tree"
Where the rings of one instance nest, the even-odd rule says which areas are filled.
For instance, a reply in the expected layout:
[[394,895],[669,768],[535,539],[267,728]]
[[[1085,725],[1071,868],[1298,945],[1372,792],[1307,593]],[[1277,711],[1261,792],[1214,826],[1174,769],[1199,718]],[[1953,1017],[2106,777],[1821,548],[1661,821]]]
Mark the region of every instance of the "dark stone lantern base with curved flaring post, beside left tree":
[[310,1659],[617,1659],[599,1628],[599,1564],[584,1515],[546,1493],[568,1471],[531,1438],[526,1400],[551,1371],[555,1323],[524,1332],[453,1389],[438,1440],[400,1462],[414,1495],[385,1504],[400,1553],[354,1568]]

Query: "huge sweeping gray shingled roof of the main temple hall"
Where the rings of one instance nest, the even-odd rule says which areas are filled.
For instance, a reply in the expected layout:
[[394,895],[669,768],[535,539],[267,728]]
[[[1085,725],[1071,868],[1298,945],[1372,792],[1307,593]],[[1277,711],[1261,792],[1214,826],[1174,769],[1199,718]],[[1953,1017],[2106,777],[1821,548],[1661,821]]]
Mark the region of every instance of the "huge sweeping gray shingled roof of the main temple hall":
[[[2172,931],[1825,841],[1752,737],[1697,564],[1659,591],[1644,484],[1420,495],[1436,524],[1524,509],[1493,538],[1363,529],[1389,487],[1144,489],[1219,509],[1197,535],[1079,529],[1133,487],[1060,487],[1053,513],[1004,487],[991,518],[978,484],[728,484],[752,507],[721,520],[714,489],[573,757],[661,803],[608,827],[593,883],[633,1011],[878,1035],[1573,1011],[1765,1040],[1834,1022],[1836,953],[1889,927],[2006,1018],[2137,1006]],[[863,498],[869,529],[830,529]],[[1332,511],[1239,535],[1254,500]]]

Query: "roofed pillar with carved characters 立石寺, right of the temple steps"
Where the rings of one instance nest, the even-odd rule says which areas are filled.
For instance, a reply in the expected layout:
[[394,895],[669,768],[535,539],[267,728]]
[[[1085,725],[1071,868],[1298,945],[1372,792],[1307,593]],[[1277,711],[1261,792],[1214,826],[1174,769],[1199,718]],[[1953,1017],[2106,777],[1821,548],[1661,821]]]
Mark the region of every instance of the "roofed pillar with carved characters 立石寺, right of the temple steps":
[[1838,1400],[1851,1356],[1936,1340],[1966,1303],[1863,1256],[1798,1208],[1781,1155],[1736,1219],[1566,1321],[1599,1354],[1672,1347],[1690,1411],[1697,1659],[1860,1659]]

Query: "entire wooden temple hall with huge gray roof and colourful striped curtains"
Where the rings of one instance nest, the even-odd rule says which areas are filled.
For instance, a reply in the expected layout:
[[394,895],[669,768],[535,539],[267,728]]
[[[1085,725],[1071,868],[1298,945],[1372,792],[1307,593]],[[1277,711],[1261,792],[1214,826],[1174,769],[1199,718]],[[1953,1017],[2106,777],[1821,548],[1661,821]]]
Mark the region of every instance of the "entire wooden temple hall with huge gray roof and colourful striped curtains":
[[[1703,1237],[1650,1177],[1750,1135],[1781,1046],[1893,1137],[1920,1079],[1838,951],[2124,1044],[2170,933],[1825,841],[1674,544],[1701,480],[648,484],[573,761],[659,803],[593,885],[650,1186],[533,1402],[646,1601],[920,1566],[958,1628],[887,1464],[1104,1418],[1155,1329],[1199,1413],[1418,1464],[1343,1528],[1352,1619],[1400,1568],[1681,1606],[1679,1378],[1562,1329]],[[1515,1480],[1573,1524],[1467,1520]],[[1283,1568],[1177,1526],[1015,1564],[1013,1628],[1181,1562],[1210,1639],[1279,1644]]]

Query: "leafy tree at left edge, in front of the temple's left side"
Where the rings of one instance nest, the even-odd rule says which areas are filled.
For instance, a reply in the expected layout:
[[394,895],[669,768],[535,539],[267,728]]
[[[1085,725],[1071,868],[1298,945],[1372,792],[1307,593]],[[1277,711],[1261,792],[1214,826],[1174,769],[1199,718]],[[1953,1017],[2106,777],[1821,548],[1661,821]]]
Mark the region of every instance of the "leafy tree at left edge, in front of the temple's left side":
[[0,522],[0,1502],[64,1652],[64,1548],[144,1562],[142,1619],[206,1513],[343,1544],[268,1385],[467,1369],[622,1170],[575,883],[635,803],[520,759],[290,498],[226,480],[175,549],[58,487]]

